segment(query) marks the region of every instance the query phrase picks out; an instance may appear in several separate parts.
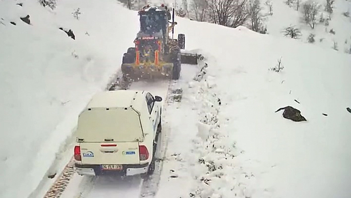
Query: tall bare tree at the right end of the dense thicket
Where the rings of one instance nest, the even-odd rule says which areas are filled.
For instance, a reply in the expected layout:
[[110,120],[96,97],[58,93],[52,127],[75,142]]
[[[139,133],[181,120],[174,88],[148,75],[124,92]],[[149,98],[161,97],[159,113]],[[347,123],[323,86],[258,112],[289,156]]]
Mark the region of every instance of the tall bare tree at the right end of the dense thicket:
[[261,14],[262,7],[260,5],[260,0],[249,0],[247,3],[247,13],[249,15],[251,24],[251,30],[255,32],[260,32],[262,29],[262,19]]

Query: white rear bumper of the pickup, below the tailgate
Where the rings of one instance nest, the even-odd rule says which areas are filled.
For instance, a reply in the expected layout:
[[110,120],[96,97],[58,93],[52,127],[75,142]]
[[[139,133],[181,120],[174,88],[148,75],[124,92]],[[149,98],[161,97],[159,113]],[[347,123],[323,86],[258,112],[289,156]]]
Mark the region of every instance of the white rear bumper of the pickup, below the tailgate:
[[102,170],[100,165],[96,164],[78,164],[75,163],[78,175],[119,175],[119,176],[133,176],[144,174],[149,168],[149,163],[146,164],[123,164],[121,170]]

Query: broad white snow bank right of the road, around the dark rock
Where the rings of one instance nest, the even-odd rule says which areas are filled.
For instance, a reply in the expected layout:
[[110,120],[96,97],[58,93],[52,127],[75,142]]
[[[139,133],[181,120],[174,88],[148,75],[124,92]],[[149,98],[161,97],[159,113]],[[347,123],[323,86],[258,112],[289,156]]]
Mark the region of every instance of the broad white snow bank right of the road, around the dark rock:
[[[196,111],[200,123],[183,119],[183,133],[190,137],[178,137],[182,141],[171,145],[192,150],[168,148],[167,176],[158,196],[186,181],[176,195],[350,197],[351,115],[346,108],[351,105],[351,57],[245,27],[177,22],[176,33],[185,33],[186,49],[201,49],[208,69],[200,82],[183,86],[183,98],[192,102],[182,100],[177,111]],[[280,58],[284,69],[270,70]],[[307,122],[274,113],[288,105]],[[173,152],[182,156],[181,162]],[[189,176],[172,179],[168,169]]]

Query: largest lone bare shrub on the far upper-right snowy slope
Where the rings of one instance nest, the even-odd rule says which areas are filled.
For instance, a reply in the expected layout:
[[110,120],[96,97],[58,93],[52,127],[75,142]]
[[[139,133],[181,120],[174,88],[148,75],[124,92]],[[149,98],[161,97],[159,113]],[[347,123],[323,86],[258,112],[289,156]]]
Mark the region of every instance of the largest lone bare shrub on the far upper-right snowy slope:
[[302,4],[303,20],[314,29],[321,5],[313,0],[308,0]]

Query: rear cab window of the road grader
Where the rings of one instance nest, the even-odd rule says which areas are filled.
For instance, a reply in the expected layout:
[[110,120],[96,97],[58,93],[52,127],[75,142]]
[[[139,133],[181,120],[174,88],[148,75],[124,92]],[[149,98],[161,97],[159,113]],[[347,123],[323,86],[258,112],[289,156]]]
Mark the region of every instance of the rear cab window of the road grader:
[[157,13],[140,15],[140,28],[142,32],[153,34],[162,29],[162,17]]

